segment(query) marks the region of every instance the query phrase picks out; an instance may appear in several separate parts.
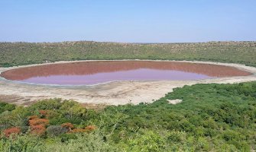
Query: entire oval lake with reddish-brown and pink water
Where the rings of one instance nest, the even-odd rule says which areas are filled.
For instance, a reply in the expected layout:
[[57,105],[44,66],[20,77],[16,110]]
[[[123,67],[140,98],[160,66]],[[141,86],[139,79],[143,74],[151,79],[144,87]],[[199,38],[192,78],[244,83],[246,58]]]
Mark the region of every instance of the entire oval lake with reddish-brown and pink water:
[[245,76],[250,73],[222,65],[186,62],[73,62],[5,71],[2,77],[36,84],[98,84],[126,80],[197,80]]

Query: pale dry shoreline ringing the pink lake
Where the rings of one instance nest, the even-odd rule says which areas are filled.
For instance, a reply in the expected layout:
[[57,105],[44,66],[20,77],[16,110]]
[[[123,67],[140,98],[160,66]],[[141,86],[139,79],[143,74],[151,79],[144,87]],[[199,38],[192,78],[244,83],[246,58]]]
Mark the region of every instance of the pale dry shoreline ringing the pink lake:
[[[134,60],[86,60],[72,62],[97,62],[97,61],[134,61]],[[136,61],[154,61],[154,62],[170,62],[167,60],[136,60]],[[173,60],[171,60],[173,61]],[[190,61],[175,61],[190,62]],[[49,65],[67,63],[53,62],[39,65]],[[232,66],[244,71],[249,71],[252,75],[242,77],[215,78],[199,81],[114,81],[107,84],[97,84],[93,86],[50,86],[40,84],[24,84],[15,81],[8,81],[0,78],[0,100],[18,105],[27,105],[36,100],[48,98],[63,98],[65,100],[76,100],[80,103],[92,104],[111,104],[122,105],[127,103],[138,104],[141,102],[152,103],[160,97],[164,97],[175,87],[183,87],[184,85],[193,84],[233,84],[246,81],[256,81],[256,68],[231,63],[220,62],[191,62],[212,65]],[[11,68],[0,68],[0,73],[13,68],[23,68],[36,65],[22,65]]]

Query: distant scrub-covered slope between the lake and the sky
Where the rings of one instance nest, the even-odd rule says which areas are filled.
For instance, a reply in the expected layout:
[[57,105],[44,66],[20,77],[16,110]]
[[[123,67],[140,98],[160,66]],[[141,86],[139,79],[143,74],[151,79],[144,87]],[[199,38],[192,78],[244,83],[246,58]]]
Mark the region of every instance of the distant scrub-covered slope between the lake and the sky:
[[256,66],[256,42],[0,43],[0,66],[86,59],[175,59]]

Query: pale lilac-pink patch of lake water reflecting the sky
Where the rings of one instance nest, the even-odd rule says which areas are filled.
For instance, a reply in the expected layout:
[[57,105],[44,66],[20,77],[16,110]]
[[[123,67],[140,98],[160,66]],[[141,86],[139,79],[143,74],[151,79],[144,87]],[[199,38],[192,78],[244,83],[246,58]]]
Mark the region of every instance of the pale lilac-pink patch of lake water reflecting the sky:
[[22,80],[23,82],[35,84],[99,84],[109,81],[163,81],[163,80],[199,80],[212,78],[204,74],[196,74],[185,71],[158,70],[139,68],[128,71],[102,72],[96,74],[83,75],[50,75],[43,77],[33,77]]

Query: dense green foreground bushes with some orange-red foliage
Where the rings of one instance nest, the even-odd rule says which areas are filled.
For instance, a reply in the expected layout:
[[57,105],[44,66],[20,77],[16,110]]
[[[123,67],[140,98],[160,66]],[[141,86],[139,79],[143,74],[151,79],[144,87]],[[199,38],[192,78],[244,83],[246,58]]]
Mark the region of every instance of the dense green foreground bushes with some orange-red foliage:
[[6,105],[0,151],[256,150],[256,82],[185,86],[151,104],[97,111],[60,99]]

